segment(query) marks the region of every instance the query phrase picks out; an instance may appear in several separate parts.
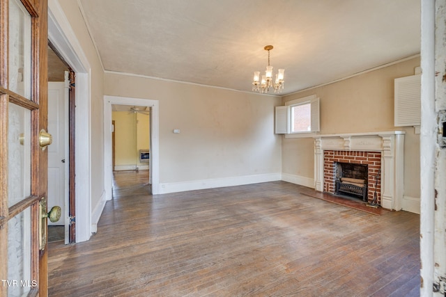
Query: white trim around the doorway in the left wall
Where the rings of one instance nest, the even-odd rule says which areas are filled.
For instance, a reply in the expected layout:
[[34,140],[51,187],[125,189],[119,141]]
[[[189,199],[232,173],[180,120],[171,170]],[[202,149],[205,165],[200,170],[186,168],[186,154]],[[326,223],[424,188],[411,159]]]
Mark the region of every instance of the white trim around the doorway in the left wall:
[[91,67],[56,0],[48,1],[48,39],[76,73],[76,242],[87,241],[91,224]]

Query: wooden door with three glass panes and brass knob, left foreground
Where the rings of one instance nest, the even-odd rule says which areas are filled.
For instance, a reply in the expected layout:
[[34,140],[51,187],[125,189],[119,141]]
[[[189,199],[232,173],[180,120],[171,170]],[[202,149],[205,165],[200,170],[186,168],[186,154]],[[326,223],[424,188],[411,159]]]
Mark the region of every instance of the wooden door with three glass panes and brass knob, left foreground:
[[47,0],[0,1],[0,296],[47,296]]

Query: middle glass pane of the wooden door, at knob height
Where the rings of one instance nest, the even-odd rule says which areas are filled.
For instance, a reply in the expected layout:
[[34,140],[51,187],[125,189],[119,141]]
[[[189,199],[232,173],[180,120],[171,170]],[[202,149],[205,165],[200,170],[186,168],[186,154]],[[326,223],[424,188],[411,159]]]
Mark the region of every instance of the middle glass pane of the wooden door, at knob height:
[[31,195],[31,111],[8,104],[8,207]]

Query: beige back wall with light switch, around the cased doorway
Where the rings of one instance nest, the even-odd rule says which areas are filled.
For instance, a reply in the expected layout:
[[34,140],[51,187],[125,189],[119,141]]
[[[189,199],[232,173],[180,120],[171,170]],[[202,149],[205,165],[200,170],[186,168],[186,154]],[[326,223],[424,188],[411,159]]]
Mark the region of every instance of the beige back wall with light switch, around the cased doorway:
[[105,95],[159,100],[160,183],[282,172],[279,97],[114,73]]

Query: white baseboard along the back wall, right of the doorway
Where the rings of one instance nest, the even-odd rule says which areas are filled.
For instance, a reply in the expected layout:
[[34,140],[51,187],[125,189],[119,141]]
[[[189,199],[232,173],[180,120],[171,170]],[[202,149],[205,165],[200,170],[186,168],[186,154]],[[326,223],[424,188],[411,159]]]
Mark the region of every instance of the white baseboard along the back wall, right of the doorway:
[[205,188],[220,188],[223,186],[240,186],[243,184],[257,184],[259,182],[275,182],[278,180],[281,180],[281,173],[268,173],[264,175],[245,175],[242,177],[224,177],[218,179],[199,179],[188,182],[160,183],[159,194],[202,190]]

